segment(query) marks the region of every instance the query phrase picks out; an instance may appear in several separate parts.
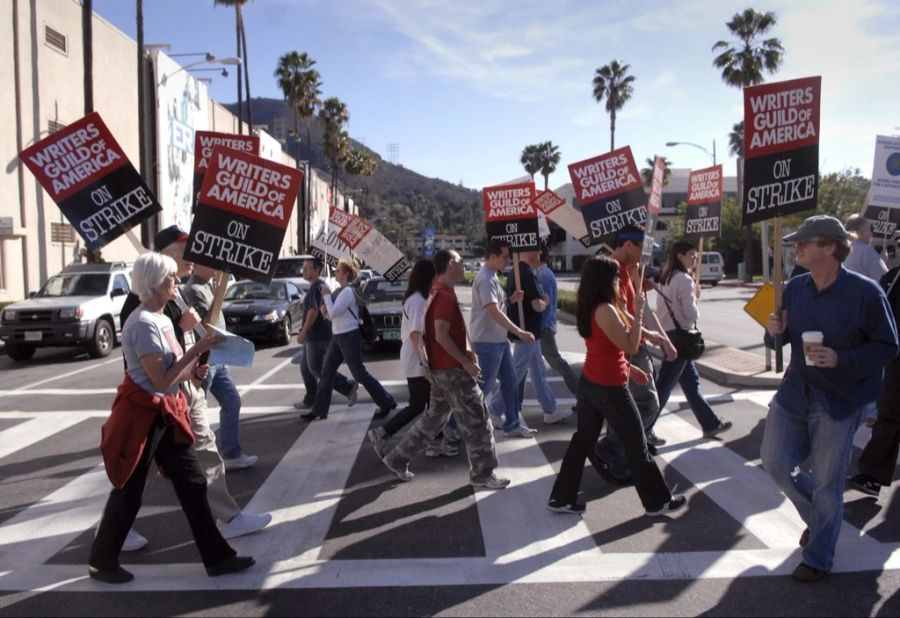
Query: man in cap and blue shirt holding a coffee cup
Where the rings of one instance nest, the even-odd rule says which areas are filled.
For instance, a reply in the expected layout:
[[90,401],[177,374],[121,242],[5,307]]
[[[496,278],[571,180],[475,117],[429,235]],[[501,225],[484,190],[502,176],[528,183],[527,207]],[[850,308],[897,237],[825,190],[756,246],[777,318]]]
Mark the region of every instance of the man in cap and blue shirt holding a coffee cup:
[[881,288],[843,268],[850,241],[840,221],[809,217],[784,240],[809,273],[788,282],[766,327],[767,346],[776,335],[790,343],[791,363],[769,405],[761,456],[807,525],[794,579],[813,582],[834,561],[853,434],[897,356],[897,327]]

